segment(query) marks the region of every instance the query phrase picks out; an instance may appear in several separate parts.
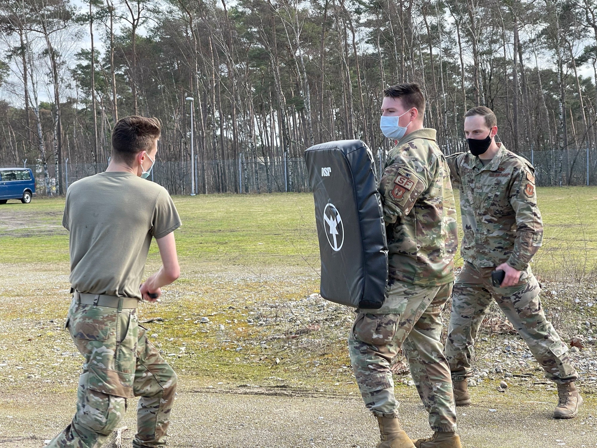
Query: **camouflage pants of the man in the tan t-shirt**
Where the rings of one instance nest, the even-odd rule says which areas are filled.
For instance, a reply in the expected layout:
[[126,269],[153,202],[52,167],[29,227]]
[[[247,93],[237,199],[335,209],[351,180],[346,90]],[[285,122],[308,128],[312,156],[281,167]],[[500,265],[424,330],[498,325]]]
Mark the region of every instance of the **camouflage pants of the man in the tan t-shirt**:
[[165,446],[176,373],[147,340],[136,309],[119,311],[73,300],[67,326],[85,363],[75,416],[47,447],[99,448],[133,396],[141,397],[133,446]]

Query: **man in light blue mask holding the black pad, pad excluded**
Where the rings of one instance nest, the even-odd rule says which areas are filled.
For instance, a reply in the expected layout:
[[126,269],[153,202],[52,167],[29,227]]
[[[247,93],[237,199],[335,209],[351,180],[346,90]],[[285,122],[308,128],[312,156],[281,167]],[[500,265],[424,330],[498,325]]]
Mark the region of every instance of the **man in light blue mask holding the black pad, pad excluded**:
[[[381,173],[388,248],[386,300],[359,305],[350,361],[365,406],[380,429],[377,448],[461,448],[450,368],[442,354],[441,311],[454,281],[456,203],[435,129],[423,126],[418,84],[384,90],[380,128],[397,140]],[[432,437],[411,440],[399,422],[390,362],[404,349]]]

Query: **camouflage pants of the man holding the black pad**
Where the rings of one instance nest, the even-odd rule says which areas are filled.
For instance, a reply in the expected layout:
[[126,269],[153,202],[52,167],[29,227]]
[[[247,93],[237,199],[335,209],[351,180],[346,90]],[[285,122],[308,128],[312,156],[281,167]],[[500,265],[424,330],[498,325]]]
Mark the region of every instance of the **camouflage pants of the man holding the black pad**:
[[390,362],[402,348],[433,431],[456,431],[450,369],[442,353],[441,312],[452,284],[423,287],[394,281],[381,309],[359,309],[348,346],[365,406],[398,417]]

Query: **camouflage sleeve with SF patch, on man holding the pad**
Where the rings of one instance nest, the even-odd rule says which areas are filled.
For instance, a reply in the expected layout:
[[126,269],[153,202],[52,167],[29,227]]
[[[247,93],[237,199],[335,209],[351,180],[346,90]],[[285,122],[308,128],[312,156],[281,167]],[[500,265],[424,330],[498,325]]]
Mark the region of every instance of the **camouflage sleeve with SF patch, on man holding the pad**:
[[386,224],[407,216],[429,187],[429,168],[425,165],[418,159],[399,157],[383,171],[379,192]]

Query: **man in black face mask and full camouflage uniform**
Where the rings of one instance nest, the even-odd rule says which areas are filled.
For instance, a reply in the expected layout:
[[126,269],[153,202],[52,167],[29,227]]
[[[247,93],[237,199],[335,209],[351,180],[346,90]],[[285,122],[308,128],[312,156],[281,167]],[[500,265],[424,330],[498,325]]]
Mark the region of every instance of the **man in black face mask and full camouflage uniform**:
[[[473,344],[491,302],[527,342],[546,378],[558,386],[554,418],[574,418],[583,399],[574,381],[568,348],[549,323],[539,300],[540,286],[529,263],[543,243],[534,168],[496,143],[497,119],[489,108],[470,109],[464,119],[469,151],[447,158],[450,178],[460,185],[464,266],[454,283],[452,313],[444,349],[450,364],[456,406],[470,404]],[[494,286],[492,271],[503,271]],[[473,381],[470,379],[470,381]]]

